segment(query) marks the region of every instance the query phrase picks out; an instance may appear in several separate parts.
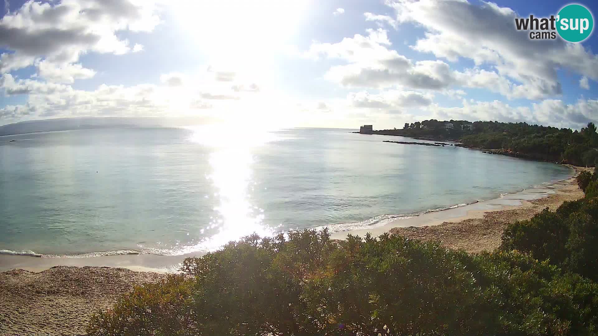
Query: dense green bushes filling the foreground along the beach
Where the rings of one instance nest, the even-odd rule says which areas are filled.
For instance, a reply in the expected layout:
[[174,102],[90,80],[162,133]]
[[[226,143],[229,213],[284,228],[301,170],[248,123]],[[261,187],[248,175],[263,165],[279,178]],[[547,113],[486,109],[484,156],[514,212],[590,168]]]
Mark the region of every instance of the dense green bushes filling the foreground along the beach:
[[388,233],[257,235],[136,287],[89,335],[598,335],[598,176],[468,254]]

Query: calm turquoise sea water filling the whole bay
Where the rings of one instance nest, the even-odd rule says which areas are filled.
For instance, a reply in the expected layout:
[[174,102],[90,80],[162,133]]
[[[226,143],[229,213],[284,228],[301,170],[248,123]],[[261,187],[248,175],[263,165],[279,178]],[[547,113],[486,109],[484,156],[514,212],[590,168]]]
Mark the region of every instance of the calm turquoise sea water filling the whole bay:
[[0,137],[1,253],[178,255],[254,231],[365,228],[570,173],[558,164],[351,131],[199,127]]

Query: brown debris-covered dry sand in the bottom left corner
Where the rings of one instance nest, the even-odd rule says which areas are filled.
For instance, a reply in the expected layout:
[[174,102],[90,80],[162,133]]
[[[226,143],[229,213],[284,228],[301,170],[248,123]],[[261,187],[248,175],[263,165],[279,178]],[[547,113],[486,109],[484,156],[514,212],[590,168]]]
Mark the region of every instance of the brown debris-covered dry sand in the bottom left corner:
[[53,267],[0,273],[0,335],[84,335],[89,317],[133,285],[163,273],[115,267]]

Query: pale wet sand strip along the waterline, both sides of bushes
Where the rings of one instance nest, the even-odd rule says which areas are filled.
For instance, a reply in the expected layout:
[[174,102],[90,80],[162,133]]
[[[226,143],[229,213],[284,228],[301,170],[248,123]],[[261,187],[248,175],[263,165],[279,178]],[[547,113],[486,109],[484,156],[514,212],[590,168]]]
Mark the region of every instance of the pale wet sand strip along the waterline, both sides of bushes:
[[[442,230],[451,230],[446,228],[449,223],[461,221],[483,220],[486,213],[514,210],[519,207],[529,207],[532,202],[538,199],[547,198],[549,203],[560,202],[562,197],[554,198],[555,193],[565,189],[575,179],[575,176],[585,170],[584,167],[575,167],[564,165],[572,169],[568,178],[546,182],[546,185],[527,188],[515,193],[504,194],[501,197],[490,200],[477,201],[470,204],[458,204],[441,210],[431,210],[413,216],[406,216],[383,222],[383,224],[372,225],[367,228],[335,231],[331,233],[331,239],[346,239],[347,234],[364,237],[371,233],[376,237],[380,234],[389,232],[391,234],[403,234],[417,239],[437,239],[443,240],[446,234]],[[574,187],[578,190],[575,183]],[[583,193],[574,197],[582,197]],[[568,191],[569,192],[569,191]],[[559,204],[560,204],[559,203]],[[535,213],[535,212],[534,212]],[[512,216],[511,216],[512,217]],[[434,228],[434,227],[442,227]],[[502,233],[502,229],[501,229]],[[500,234],[499,234],[500,236]],[[453,239],[454,240],[454,239]],[[450,247],[465,248],[463,244],[449,244]],[[466,250],[470,251],[466,248]],[[473,248],[470,252],[478,252]],[[38,255],[0,255],[0,272],[8,270],[27,270],[32,272],[41,272],[51,267],[69,266],[69,267],[120,267],[132,271],[147,271],[155,273],[178,273],[181,262],[188,257],[202,256],[205,252],[192,252],[184,255],[158,255],[144,253],[129,254],[108,254],[98,256],[38,256]]]

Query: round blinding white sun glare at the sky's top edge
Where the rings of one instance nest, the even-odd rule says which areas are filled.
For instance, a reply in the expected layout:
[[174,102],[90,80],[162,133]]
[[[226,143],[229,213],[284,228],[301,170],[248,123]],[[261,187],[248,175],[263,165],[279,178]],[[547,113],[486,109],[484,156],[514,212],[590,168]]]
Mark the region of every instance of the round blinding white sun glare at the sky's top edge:
[[[214,61],[245,66],[268,57],[297,32],[309,1],[180,0],[172,11],[181,28]],[[240,52],[242,51],[242,54]]]

